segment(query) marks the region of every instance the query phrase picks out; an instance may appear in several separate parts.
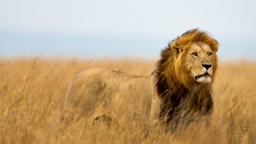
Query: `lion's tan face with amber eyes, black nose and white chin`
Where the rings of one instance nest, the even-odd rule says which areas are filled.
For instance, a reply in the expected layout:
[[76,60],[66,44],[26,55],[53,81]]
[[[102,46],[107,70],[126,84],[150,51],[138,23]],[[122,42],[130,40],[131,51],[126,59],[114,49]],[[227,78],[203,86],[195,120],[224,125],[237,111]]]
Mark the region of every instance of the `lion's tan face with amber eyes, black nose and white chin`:
[[190,76],[200,83],[212,82],[215,52],[204,43],[194,43],[186,50],[186,64]]

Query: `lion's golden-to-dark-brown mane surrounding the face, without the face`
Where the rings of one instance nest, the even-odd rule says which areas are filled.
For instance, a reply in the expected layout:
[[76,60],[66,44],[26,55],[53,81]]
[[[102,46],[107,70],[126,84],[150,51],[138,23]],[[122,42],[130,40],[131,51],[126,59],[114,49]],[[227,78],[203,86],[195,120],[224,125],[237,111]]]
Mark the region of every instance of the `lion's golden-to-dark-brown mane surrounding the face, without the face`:
[[[184,83],[176,76],[175,62],[177,56],[182,50],[189,48],[193,42],[204,42],[213,50],[218,50],[218,42],[209,34],[198,29],[192,29],[169,42],[168,46],[161,50],[160,60],[156,65],[156,91],[163,99],[160,117],[167,117],[167,122],[171,122],[178,114],[178,107],[181,105],[182,99],[189,99],[190,103],[186,104],[187,107],[198,111],[203,107],[206,107],[207,111],[213,109],[212,83]],[[199,96],[200,100],[198,100]]]

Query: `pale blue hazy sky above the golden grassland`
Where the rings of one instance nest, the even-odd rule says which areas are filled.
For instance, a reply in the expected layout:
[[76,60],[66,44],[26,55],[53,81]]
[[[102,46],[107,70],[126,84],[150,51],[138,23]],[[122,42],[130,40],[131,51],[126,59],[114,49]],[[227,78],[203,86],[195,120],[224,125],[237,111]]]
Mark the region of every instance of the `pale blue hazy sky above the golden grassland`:
[[5,58],[158,58],[192,28],[219,41],[221,60],[256,60],[256,0],[0,0]]

